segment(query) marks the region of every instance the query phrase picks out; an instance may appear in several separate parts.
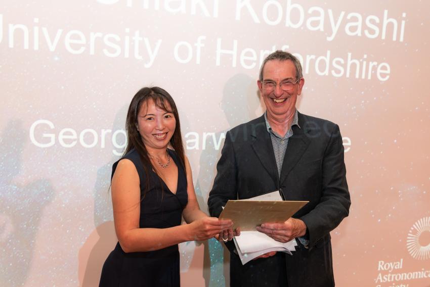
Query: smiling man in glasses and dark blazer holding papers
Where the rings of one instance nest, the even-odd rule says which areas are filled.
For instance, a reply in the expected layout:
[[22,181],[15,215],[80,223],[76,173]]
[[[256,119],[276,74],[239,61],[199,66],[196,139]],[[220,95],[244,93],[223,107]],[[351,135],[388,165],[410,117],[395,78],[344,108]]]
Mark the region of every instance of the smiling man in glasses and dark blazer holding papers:
[[242,265],[234,244],[226,243],[231,286],[334,286],[329,232],[351,205],[342,137],[336,124],[297,112],[304,83],[293,55],[272,53],[257,81],[266,113],[226,134],[209,193],[212,216],[219,216],[228,200],[274,190],[285,200],[309,201],[287,221],[257,227],[279,242],[295,238],[292,255],[272,252]]

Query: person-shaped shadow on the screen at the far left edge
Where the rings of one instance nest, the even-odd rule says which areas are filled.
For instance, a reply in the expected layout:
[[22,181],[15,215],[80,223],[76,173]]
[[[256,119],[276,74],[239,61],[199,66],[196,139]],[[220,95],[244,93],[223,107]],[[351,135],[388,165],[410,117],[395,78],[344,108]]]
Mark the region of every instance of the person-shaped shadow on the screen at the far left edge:
[[0,286],[24,285],[33,260],[40,218],[54,197],[48,179],[37,179],[23,186],[14,182],[21,172],[26,135],[22,122],[12,120],[0,137]]

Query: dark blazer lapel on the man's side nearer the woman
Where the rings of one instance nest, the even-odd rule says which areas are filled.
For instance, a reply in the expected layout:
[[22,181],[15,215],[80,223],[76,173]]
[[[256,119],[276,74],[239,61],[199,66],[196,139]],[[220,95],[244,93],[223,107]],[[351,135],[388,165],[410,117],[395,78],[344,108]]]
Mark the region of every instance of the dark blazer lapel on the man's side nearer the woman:
[[[274,182],[278,182],[278,168],[276,167],[275,154],[273,153],[272,140],[270,134],[266,129],[264,115],[261,122],[255,126],[254,132],[251,133],[255,137],[254,142],[251,144],[252,149],[259,158],[263,167],[269,172]],[[252,166],[249,168],[253,168]]]

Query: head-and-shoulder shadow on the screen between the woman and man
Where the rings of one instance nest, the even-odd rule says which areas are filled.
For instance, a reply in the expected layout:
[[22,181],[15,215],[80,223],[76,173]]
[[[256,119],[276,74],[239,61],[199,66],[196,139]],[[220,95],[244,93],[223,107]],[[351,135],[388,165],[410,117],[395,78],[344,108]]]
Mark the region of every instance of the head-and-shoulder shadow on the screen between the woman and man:
[[[196,196],[200,208],[208,214],[207,198],[217,174],[217,163],[221,156],[226,132],[239,124],[261,116],[264,111],[256,81],[244,74],[230,78],[223,89],[220,107],[229,127],[203,138],[204,149],[200,156],[200,171],[196,181]],[[208,131],[210,132],[210,131]],[[203,277],[206,286],[229,286],[230,255],[228,250],[214,238],[204,243]]]

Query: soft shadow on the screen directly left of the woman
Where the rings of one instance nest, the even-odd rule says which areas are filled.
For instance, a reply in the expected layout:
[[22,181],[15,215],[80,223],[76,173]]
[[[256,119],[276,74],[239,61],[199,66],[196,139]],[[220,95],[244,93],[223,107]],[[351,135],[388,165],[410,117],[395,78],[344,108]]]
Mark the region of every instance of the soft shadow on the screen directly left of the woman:
[[[128,106],[123,106],[116,114],[112,124],[112,133],[124,128],[127,108]],[[118,144],[122,144],[125,142],[125,137],[118,136],[118,141]],[[122,153],[118,149],[115,151]],[[112,165],[120,157],[112,154],[110,161],[97,171],[94,185],[94,226],[96,229],[88,236],[78,255],[78,277],[82,287],[99,285],[103,263],[118,241],[113,224],[110,178]]]

